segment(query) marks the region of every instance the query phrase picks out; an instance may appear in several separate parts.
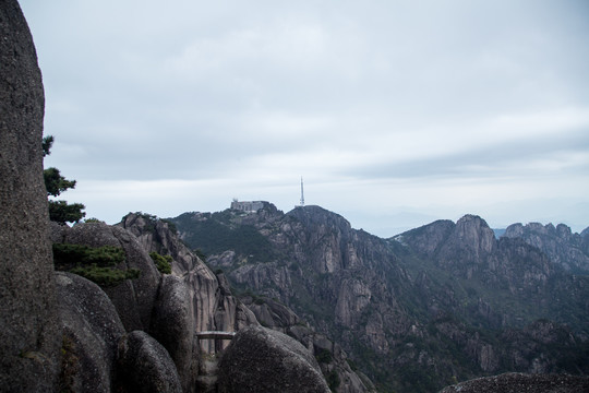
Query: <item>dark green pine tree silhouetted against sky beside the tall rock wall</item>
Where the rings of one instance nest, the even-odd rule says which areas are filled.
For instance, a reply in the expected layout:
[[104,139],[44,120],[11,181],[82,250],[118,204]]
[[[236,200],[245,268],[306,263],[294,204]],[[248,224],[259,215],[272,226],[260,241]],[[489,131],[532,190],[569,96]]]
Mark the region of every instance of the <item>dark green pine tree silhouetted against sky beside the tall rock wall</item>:
[[[51,154],[51,146],[53,145],[53,136],[48,135],[43,139],[43,156]],[[47,189],[47,196],[58,196],[63,191],[75,188],[75,180],[68,180],[61,176],[58,168],[47,168],[43,171],[45,179],[45,188]],[[69,204],[65,201],[52,201],[49,200],[49,219],[58,222],[60,224],[77,223],[86,213],[82,212],[86,206],[82,203]]]

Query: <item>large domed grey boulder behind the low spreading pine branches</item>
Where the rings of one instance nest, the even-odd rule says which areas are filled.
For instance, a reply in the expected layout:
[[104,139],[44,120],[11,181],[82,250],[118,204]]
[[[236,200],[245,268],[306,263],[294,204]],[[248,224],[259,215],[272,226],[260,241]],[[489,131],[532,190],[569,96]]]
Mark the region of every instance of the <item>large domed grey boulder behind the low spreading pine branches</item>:
[[60,237],[67,243],[89,247],[112,246],[121,247],[124,250],[125,261],[118,267],[123,270],[139,269],[141,271],[140,277],[104,289],[117,307],[128,332],[133,330],[147,331],[161,275],[133,234],[104,223],[77,224],[72,228],[53,228],[53,238],[58,238],[56,235],[58,230],[61,231]]

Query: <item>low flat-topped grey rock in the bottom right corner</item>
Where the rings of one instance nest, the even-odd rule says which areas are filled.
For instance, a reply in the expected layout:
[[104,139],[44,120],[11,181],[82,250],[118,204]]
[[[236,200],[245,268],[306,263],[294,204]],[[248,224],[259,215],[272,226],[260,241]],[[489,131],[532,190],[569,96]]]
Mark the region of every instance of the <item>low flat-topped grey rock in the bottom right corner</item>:
[[447,386],[440,393],[579,393],[589,391],[589,377],[504,373]]

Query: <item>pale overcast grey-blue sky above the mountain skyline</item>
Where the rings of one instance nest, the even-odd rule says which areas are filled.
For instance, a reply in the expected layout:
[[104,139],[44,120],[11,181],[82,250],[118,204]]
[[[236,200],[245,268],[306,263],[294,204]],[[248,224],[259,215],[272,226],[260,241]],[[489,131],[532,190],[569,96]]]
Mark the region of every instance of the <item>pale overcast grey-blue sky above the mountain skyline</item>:
[[87,217],[589,226],[589,1],[21,0]]

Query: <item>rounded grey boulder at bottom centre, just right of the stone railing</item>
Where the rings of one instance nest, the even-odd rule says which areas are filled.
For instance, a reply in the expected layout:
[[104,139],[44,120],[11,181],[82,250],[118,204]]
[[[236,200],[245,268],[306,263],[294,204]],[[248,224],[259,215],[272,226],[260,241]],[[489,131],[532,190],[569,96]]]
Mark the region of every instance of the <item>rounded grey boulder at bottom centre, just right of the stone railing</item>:
[[232,340],[219,365],[220,393],[329,392],[317,361],[296,340],[260,326]]

